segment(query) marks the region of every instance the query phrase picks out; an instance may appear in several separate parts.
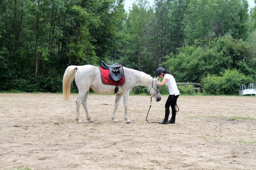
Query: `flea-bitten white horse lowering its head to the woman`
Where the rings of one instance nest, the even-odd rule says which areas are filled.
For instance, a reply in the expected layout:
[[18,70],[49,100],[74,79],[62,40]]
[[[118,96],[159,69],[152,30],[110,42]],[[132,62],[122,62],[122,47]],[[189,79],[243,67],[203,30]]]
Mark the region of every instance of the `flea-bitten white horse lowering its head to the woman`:
[[[126,123],[130,123],[131,121],[128,119],[128,97],[129,93],[135,86],[145,86],[148,89],[148,92],[151,96],[154,96],[156,101],[161,100],[161,95],[159,93],[159,88],[157,83],[159,80],[157,78],[153,78],[144,72],[133,70],[130,68],[125,68],[125,83],[119,86],[119,90],[116,94],[114,111],[112,113],[111,119],[113,122],[117,122],[116,120],[116,109],[119,105],[119,101],[121,96],[123,95],[124,100],[124,108],[125,108],[125,121]],[[89,89],[92,88],[93,91],[96,91],[99,94],[113,94],[115,86],[114,85],[105,85],[102,83],[100,70],[98,67],[93,65],[82,65],[75,66],[71,65],[67,67],[64,76],[63,76],[63,94],[64,100],[67,101],[70,96],[70,85],[75,77],[76,85],[79,89],[79,96],[76,100],[76,120],[78,123],[81,123],[81,117],[79,113],[80,105],[82,104],[87,116],[87,120],[89,122],[93,122],[93,119],[90,116],[90,113],[87,109],[87,98],[89,94]]]

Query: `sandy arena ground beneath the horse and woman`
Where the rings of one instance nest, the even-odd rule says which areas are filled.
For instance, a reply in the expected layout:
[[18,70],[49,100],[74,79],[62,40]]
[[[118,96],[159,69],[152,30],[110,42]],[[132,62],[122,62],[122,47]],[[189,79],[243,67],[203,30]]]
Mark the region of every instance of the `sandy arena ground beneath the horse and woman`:
[[[90,94],[94,119],[76,122],[76,97],[0,94],[0,170],[256,170],[255,96],[180,96],[175,125],[147,123],[149,96]],[[162,121],[167,96],[152,102],[149,121]],[[235,118],[236,117],[236,118]],[[249,120],[244,120],[249,119]]]

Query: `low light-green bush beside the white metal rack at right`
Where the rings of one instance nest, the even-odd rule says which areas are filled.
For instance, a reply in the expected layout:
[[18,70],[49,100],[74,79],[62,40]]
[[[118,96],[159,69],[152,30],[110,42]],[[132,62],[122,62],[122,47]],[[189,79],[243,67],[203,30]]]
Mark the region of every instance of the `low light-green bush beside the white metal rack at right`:
[[241,84],[249,85],[253,78],[245,76],[238,70],[226,70],[217,77],[208,74],[202,79],[204,94],[238,94]]

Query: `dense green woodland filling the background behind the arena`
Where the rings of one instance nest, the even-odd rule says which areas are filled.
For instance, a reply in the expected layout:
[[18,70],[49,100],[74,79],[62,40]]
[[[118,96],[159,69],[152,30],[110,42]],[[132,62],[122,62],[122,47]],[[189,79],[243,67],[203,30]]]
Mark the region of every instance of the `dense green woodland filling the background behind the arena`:
[[68,65],[100,60],[152,76],[161,65],[207,94],[237,94],[256,83],[256,8],[248,12],[247,0],[136,0],[128,12],[123,0],[0,1],[0,91],[61,92]]

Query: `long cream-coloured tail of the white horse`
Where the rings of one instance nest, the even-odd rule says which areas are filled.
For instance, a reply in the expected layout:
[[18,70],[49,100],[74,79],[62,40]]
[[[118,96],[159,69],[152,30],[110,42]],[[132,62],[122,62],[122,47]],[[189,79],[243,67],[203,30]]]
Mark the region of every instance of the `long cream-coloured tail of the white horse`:
[[71,82],[73,81],[75,77],[75,73],[77,71],[76,65],[70,65],[65,70],[63,81],[62,81],[62,91],[63,91],[63,98],[64,101],[68,101],[70,96],[70,86]]

